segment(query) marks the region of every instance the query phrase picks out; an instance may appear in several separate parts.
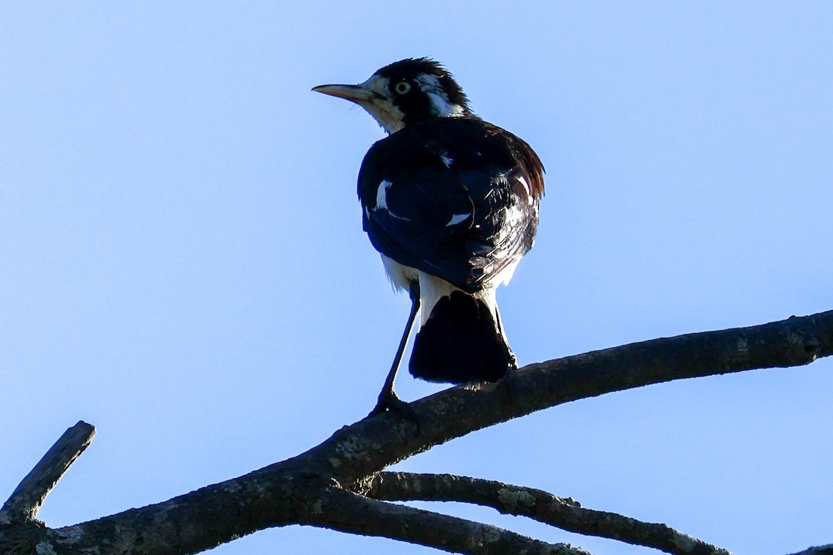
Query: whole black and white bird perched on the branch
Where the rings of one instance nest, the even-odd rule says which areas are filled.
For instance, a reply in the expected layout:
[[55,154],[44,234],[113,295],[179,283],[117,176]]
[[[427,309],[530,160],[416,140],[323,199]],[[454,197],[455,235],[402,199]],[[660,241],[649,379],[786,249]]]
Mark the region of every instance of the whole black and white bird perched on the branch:
[[535,151],[476,116],[429,58],[392,63],[359,85],[312,90],[357,103],[390,134],[367,152],[358,196],[364,230],[412,310],[371,414],[409,409],[393,381],[417,315],[416,378],[474,384],[516,369],[495,290],[535,240],[544,194]]

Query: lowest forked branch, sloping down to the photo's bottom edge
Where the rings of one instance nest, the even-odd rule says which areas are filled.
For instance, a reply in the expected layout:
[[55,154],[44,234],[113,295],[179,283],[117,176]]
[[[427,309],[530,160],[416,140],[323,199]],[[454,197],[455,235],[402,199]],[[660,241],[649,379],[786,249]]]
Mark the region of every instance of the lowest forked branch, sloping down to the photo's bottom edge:
[[340,488],[328,488],[321,510],[308,523],[322,528],[416,543],[470,555],[589,555],[566,543],[545,543],[489,524],[420,508],[384,503]]

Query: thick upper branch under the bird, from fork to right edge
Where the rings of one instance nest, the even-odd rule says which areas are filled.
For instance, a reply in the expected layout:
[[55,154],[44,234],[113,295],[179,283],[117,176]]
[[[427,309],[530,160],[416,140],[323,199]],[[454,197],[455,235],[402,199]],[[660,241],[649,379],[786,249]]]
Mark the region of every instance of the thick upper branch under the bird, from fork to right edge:
[[[302,455],[352,483],[478,429],[577,399],[674,379],[809,364],[833,354],[833,310],[748,328],[684,334],[530,364],[503,384],[455,387],[412,403],[421,431],[398,414],[340,429]],[[312,460],[311,460],[312,462]]]

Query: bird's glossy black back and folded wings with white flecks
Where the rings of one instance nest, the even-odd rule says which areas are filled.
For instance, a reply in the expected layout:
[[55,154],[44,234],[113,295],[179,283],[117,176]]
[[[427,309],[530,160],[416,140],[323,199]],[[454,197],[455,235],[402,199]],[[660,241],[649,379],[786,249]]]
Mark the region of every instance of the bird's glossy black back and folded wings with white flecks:
[[531,248],[542,174],[526,142],[499,127],[422,121],[367,152],[364,229],[382,254],[475,292]]

